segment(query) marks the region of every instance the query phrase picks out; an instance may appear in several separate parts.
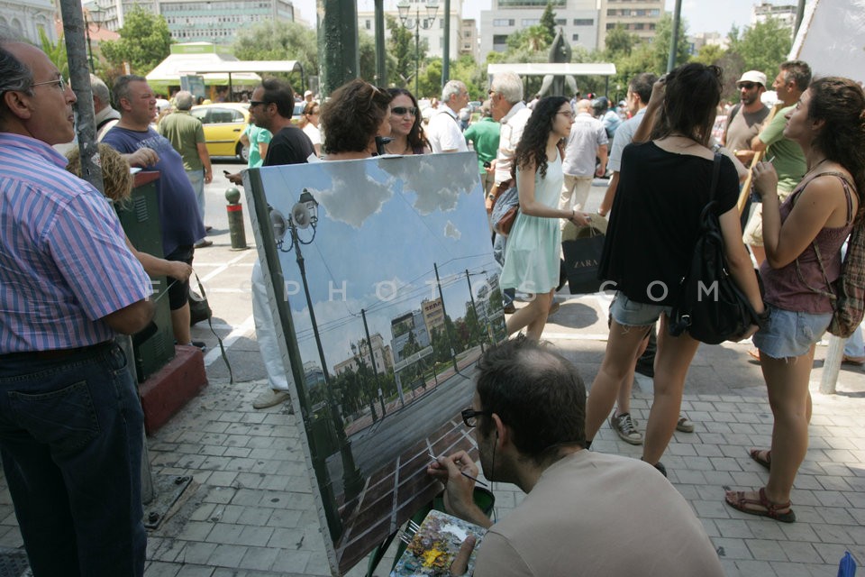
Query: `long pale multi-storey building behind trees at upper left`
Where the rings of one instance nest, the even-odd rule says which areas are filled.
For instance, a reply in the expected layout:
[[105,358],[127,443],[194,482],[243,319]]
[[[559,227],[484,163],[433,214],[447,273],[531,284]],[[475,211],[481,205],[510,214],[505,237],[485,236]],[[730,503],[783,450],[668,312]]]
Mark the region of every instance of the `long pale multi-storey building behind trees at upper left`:
[[178,42],[208,41],[231,44],[237,32],[250,24],[270,20],[295,20],[290,0],[95,0],[103,11],[102,25],[116,31],[133,5],[162,14],[171,38]]

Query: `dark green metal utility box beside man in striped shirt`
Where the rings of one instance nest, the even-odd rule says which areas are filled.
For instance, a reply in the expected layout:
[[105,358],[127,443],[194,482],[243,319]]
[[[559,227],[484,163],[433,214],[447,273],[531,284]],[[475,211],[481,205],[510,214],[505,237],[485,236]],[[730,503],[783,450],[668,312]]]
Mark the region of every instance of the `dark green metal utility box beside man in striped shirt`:
[[[162,258],[162,229],[159,224],[159,197],[155,180],[159,172],[139,172],[135,175],[132,198],[117,207],[117,215],[132,246],[141,252]],[[144,341],[132,337],[135,372],[142,383],[174,358],[174,331],[171,328],[171,310],[168,307],[166,277],[150,277],[156,312],[153,322],[156,332]]]

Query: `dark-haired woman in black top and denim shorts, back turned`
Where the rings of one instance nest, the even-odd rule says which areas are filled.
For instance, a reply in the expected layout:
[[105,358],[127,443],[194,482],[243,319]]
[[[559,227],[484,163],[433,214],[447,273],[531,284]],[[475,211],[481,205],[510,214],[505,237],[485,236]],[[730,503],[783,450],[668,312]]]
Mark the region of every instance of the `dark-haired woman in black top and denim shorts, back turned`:
[[[685,376],[699,343],[667,332],[699,233],[699,216],[709,198],[715,153],[709,149],[715,108],[721,98],[721,69],[687,64],[669,73],[652,91],[633,144],[624,149],[619,188],[607,231],[600,274],[615,289],[604,362],[586,408],[592,439],[615,403],[643,337],[660,316],[654,389],[642,460],[658,467],[676,428]],[[658,115],[657,123],[653,119]],[[651,127],[651,142],[642,142]],[[742,244],[736,200],[738,176],[722,159],[715,198],[730,272],[761,313],[763,303],[751,259]],[[757,330],[742,334],[747,338]]]

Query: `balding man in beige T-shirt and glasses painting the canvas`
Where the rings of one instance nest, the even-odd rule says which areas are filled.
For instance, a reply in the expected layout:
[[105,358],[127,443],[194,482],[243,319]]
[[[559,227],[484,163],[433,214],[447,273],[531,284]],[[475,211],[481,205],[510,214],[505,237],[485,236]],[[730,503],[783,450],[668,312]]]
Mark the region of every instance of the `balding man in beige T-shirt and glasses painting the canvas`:
[[[584,449],[586,389],[573,365],[520,336],[478,362],[471,408],[480,463],[490,481],[524,490],[493,525],[474,504],[478,468],[467,453],[427,472],[445,484],[448,512],[489,527],[474,575],[721,576],[715,547],[687,501],[650,464]],[[451,565],[465,571],[469,537]]]

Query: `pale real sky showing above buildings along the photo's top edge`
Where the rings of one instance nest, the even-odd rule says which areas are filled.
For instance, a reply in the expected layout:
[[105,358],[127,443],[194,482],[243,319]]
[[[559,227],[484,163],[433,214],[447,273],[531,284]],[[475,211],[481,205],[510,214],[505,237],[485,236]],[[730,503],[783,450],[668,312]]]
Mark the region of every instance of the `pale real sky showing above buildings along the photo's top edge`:
[[[770,1],[770,0],[766,0]],[[315,0],[294,0],[301,16],[309,23],[315,23]],[[387,3],[386,3],[387,4]],[[726,34],[735,23],[740,28],[751,23],[751,6],[760,4],[759,0],[682,0],[682,16],[687,20],[688,32],[721,32]],[[771,0],[770,4],[794,4],[787,0]],[[360,10],[371,10],[372,0],[360,0]],[[440,10],[443,5],[439,2]],[[491,0],[463,0],[463,17],[475,18],[480,22],[481,10],[489,10]],[[675,0],[666,0],[667,10],[672,11]]]

